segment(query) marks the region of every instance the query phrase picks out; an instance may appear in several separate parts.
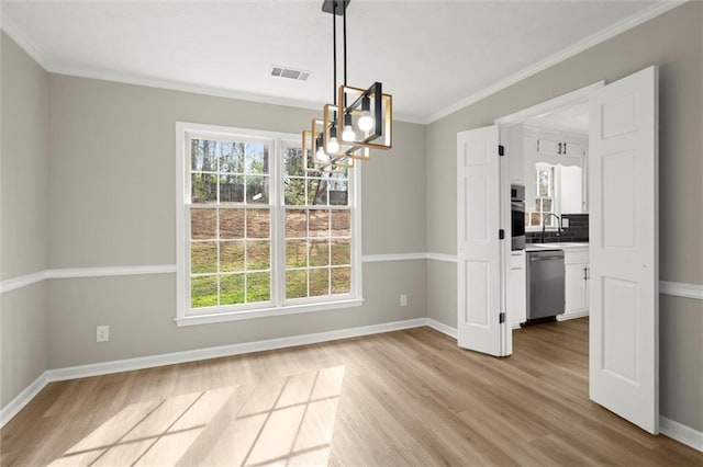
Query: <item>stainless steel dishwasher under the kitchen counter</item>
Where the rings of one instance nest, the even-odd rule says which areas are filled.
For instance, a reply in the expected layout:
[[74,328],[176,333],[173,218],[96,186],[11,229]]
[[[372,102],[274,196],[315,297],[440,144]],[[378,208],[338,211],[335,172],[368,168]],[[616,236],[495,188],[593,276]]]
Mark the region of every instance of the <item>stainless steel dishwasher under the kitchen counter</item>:
[[563,250],[527,252],[527,320],[563,314]]

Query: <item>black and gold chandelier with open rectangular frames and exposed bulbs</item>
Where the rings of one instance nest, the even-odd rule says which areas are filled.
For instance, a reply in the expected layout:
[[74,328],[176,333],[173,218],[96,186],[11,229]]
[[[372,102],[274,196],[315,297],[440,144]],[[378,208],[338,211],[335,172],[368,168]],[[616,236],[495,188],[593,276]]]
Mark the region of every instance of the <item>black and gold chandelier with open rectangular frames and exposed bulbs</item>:
[[[375,82],[368,88],[347,86],[347,15],[352,0],[324,0],[322,11],[332,14],[333,103],[323,107],[302,132],[303,170],[339,173],[355,160],[368,160],[370,149],[390,149],[392,96]],[[343,22],[344,83],[337,88],[337,16]]]

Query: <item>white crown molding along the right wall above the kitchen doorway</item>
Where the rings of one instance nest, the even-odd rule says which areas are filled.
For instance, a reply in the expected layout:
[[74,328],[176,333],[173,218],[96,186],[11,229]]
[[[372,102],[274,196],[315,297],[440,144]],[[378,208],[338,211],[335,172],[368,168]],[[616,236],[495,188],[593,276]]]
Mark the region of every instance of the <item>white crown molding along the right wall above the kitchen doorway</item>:
[[464,107],[467,107],[482,99],[488,98],[489,95],[495,94],[499,91],[502,91],[524,79],[527,79],[534,75],[537,75],[539,71],[544,71],[549,67],[553,67],[568,58],[573,57],[577,54],[580,54],[581,52],[589,49],[598,44],[601,44],[612,37],[615,37],[618,34],[622,34],[628,30],[632,30],[635,26],[640,25],[641,23],[645,23],[649,20],[651,20],[652,18],[656,18],[660,14],[666,13],[669,10],[672,10],[683,3],[687,3],[689,0],[672,0],[672,1],[662,1],[662,2],[657,2],[655,4],[652,4],[649,8],[646,8],[644,10],[641,10],[640,12],[624,19],[623,21],[620,21],[604,30],[601,30],[599,32],[596,32],[595,34],[592,34],[581,41],[579,41],[578,43],[566,47],[559,52],[557,52],[556,54],[550,55],[549,57],[537,61],[536,64],[527,67],[527,68],[523,68],[522,70],[517,71],[514,75],[511,75],[506,78],[503,78],[502,80],[498,81],[495,84],[490,86],[488,88],[482,89],[481,91],[478,91],[471,95],[469,95],[468,98],[465,98],[451,105],[449,105],[448,107],[445,107],[438,112],[435,112],[434,114],[432,114],[427,121],[425,122],[426,124],[431,124],[434,122],[437,122],[440,118],[444,118],[447,115],[450,115]]

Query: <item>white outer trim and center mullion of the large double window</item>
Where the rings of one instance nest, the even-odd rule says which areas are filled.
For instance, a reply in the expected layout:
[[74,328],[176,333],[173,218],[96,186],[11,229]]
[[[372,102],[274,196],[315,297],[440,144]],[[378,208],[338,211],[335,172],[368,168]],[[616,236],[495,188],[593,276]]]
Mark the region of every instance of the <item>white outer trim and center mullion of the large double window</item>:
[[[241,134],[243,137],[256,137],[272,139],[275,163],[269,166],[269,206],[271,208],[271,276],[276,275],[275,284],[279,287],[271,289],[271,300],[258,304],[256,308],[246,306],[219,307],[220,311],[212,312],[212,308],[205,308],[202,312],[193,311],[190,308],[189,276],[188,276],[188,249],[189,239],[186,236],[187,203],[186,187],[187,176],[190,171],[189,147],[187,136],[198,134],[211,136],[216,139],[231,138],[232,134]],[[223,321],[234,321],[243,319],[263,318],[270,316],[294,315],[312,311],[336,310],[342,308],[354,308],[364,304],[362,298],[362,264],[361,264],[361,186],[360,164],[356,163],[349,171],[348,196],[350,201],[349,210],[352,213],[352,291],[349,294],[338,295],[338,298],[310,297],[308,299],[284,300],[281,284],[284,278],[284,267],[276,267],[276,264],[286,263],[284,258],[284,204],[283,193],[279,189],[279,179],[282,172],[282,158],[279,157],[281,143],[300,140],[300,135],[256,130],[249,128],[236,128],[227,126],[204,125],[197,123],[176,122],[176,318],[177,326],[205,324]],[[276,232],[276,234],[274,234]],[[276,237],[274,237],[276,236]],[[304,303],[301,303],[304,301]],[[227,309],[230,308],[230,309]]]

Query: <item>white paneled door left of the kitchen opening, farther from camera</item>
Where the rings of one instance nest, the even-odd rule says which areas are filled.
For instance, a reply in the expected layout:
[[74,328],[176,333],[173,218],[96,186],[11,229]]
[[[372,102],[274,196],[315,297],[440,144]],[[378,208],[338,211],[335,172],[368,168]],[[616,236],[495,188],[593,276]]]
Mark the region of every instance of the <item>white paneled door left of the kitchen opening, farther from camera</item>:
[[504,315],[498,126],[457,135],[457,260],[459,346],[509,355]]

